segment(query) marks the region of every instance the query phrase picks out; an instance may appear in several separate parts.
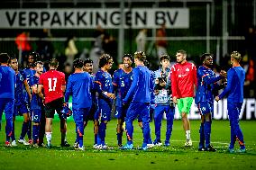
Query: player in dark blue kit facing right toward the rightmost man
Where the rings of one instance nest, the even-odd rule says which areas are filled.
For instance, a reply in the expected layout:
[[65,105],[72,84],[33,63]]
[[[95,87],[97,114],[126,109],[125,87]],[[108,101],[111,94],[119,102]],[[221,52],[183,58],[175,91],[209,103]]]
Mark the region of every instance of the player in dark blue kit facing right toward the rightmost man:
[[200,60],[203,65],[197,69],[197,93],[195,97],[195,103],[197,103],[201,115],[198,150],[215,152],[216,149],[213,148],[210,140],[212,116],[214,114],[214,94],[221,87],[218,85],[218,81],[224,79],[226,73],[221,71],[220,76],[215,77],[215,72],[212,70],[214,62],[211,54],[203,54]]

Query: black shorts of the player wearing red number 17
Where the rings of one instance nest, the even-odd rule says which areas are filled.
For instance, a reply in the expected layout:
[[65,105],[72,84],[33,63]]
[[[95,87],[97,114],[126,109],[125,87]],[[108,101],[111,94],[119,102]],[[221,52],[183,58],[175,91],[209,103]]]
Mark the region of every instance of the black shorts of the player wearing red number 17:
[[59,114],[59,118],[61,116],[61,110],[63,106],[63,98],[56,99],[51,101],[50,103],[46,103],[44,110],[45,110],[45,117],[46,118],[54,118],[55,111]]

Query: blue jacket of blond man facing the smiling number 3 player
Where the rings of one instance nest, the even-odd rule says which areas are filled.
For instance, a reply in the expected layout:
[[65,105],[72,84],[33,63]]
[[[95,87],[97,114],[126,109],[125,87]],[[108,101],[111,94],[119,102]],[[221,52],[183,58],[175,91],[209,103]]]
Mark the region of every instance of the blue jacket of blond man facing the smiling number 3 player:
[[123,99],[123,103],[139,102],[151,103],[151,90],[153,83],[151,71],[144,66],[133,68],[133,83]]

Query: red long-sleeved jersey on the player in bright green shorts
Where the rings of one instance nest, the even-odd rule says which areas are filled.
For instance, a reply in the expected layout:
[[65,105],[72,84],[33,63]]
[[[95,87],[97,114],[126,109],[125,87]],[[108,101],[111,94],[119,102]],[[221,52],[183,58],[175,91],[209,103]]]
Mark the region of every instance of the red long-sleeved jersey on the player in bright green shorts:
[[171,67],[172,96],[179,98],[194,97],[194,85],[197,85],[197,67],[185,62]]

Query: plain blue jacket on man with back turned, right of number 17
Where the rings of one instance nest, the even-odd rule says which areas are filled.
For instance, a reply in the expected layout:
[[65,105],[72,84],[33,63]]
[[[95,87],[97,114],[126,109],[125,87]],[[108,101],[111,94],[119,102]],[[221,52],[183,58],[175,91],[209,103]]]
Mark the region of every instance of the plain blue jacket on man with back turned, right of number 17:
[[87,72],[74,73],[68,79],[65,102],[69,103],[69,95],[72,94],[72,108],[90,108],[92,105],[92,89],[93,81]]

